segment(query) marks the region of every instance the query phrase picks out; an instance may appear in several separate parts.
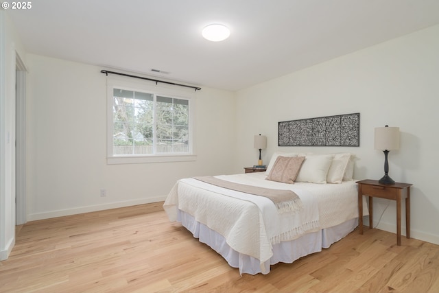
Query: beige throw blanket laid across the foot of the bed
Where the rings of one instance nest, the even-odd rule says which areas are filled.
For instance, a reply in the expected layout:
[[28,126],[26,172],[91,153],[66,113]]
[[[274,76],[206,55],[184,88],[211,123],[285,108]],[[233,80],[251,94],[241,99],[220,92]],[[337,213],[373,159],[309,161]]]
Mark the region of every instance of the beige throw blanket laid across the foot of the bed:
[[205,183],[231,189],[235,191],[244,192],[246,194],[253,194],[255,196],[265,196],[272,200],[280,213],[288,211],[299,211],[302,209],[302,201],[294,191],[285,189],[270,189],[264,187],[256,187],[252,185],[244,185],[215,178],[213,176],[193,177]]

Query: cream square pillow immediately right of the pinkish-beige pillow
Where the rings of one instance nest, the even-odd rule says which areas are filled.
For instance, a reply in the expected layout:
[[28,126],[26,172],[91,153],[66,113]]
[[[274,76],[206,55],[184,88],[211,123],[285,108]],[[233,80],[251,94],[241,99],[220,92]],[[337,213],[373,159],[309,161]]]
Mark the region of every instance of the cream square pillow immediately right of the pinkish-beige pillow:
[[327,175],[333,156],[333,154],[307,155],[302,167],[300,167],[296,182],[327,183]]

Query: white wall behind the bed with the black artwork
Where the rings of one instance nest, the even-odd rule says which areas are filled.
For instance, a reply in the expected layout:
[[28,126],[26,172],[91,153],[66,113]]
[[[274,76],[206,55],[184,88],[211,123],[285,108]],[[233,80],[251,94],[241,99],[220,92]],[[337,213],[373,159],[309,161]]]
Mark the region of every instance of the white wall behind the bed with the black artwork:
[[[300,56],[292,56],[300,58]],[[374,128],[399,126],[401,149],[391,151],[390,176],[412,183],[412,237],[439,244],[439,26],[430,27],[276,78],[237,93],[235,170],[257,162],[252,136],[268,136],[264,163],[273,152],[353,152],[355,178],[383,176],[384,156],[373,148]],[[360,113],[359,148],[277,146],[277,123]],[[396,232],[396,204],[375,199],[378,228]],[[405,231],[403,218],[403,231]],[[375,222],[377,224],[377,222]]]

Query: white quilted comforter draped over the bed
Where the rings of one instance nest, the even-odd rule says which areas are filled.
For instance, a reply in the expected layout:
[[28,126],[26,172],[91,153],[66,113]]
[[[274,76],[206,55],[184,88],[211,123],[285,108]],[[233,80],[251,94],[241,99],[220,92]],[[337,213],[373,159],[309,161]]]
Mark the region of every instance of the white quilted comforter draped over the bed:
[[300,197],[303,209],[278,213],[273,202],[262,196],[209,185],[200,180],[178,180],[163,205],[169,220],[177,220],[177,210],[193,215],[195,220],[222,235],[239,253],[261,261],[272,257],[272,244],[296,239],[357,218],[355,182],[318,185],[289,185],[265,180],[263,173],[216,176],[235,183],[272,189],[289,189]]

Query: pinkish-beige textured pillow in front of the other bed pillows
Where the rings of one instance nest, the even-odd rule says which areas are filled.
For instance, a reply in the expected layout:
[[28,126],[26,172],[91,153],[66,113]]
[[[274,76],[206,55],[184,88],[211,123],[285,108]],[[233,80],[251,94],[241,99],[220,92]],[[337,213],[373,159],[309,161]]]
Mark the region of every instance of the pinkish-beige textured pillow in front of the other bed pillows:
[[267,180],[293,184],[305,156],[278,156]]

